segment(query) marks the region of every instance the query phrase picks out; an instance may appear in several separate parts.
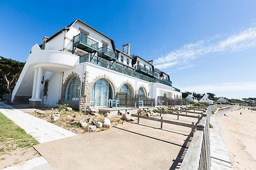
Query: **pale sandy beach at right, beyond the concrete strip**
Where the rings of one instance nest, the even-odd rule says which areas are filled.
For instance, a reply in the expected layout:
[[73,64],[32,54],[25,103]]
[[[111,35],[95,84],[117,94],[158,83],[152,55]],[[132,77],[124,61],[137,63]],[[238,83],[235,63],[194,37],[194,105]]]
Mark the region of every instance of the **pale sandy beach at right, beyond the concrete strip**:
[[218,118],[232,167],[256,169],[256,111],[243,108]]

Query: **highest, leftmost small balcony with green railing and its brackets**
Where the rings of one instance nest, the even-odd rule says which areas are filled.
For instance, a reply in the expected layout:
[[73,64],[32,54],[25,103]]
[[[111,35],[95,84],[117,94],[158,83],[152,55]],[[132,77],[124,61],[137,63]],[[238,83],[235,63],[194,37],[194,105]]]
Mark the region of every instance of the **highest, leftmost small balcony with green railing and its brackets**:
[[84,35],[83,33],[80,33],[74,36],[72,53],[75,52],[76,48],[79,48],[90,53],[98,52],[99,43]]

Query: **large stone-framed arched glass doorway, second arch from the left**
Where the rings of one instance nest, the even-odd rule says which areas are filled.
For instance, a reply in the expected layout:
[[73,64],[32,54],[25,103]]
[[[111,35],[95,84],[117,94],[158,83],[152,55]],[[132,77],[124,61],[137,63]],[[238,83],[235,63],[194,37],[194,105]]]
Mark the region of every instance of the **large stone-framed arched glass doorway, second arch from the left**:
[[91,106],[108,106],[108,99],[113,99],[113,88],[109,81],[100,78],[92,87]]

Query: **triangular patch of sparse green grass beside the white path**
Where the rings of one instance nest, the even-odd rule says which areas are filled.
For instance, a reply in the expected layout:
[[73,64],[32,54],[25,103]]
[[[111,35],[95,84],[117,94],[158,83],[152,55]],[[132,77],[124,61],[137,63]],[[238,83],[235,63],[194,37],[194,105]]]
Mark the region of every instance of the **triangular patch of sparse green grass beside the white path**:
[[17,148],[29,148],[38,141],[0,113],[0,155]]

